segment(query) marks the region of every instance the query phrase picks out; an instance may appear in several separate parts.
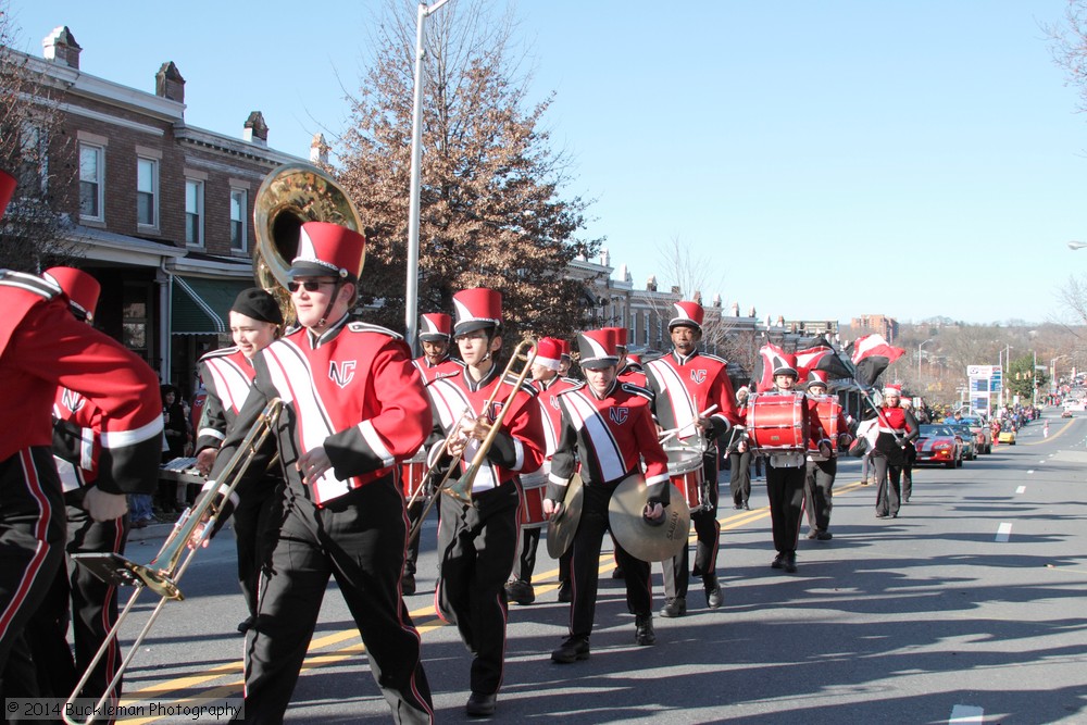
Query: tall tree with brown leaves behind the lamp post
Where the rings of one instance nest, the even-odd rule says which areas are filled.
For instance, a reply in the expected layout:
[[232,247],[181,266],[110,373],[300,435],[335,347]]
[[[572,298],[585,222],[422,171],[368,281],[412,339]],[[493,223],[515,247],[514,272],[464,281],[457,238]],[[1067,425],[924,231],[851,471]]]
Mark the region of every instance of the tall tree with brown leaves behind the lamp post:
[[[365,315],[402,329],[415,5],[390,2],[383,20],[337,176],[370,240]],[[570,163],[541,128],[552,99],[529,105],[510,58],[513,24],[483,0],[449,3],[426,28],[418,311],[451,312],[457,290],[491,287],[502,292],[509,338],[570,337],[587,310],[566,265],[600,241],[577,237],[589,202],[562,196]]]

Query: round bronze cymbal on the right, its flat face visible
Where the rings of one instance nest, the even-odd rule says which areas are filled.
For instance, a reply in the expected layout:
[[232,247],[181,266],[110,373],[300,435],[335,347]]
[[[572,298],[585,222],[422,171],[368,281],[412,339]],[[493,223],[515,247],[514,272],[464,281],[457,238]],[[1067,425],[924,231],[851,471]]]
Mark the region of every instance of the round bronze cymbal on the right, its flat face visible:
[[664,523],[649,524],[641,515],[649,500],[646,477],[627,476],[612,493],[608,504],[608,522],[612,535],[621,547],[641,561],[654,562],[671,559],[687,546],[690,532],[690,509],[683,493],[672,486],[671,501],[664,509]]

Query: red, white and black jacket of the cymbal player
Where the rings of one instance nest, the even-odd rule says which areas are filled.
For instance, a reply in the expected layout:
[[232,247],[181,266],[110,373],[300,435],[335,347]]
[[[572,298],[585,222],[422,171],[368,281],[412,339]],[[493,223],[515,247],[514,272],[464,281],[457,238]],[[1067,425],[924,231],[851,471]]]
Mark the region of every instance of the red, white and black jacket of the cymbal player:
[[578,461],[585,485],[611,488],[640,473],[645,463],[650,498],[667,504],[669,457],[657,438],[649,401],[645,388],[617,380],[603,398],[597,398],[585,383],[560,393],[562,428],[551,459],[547,498],[565,499]]

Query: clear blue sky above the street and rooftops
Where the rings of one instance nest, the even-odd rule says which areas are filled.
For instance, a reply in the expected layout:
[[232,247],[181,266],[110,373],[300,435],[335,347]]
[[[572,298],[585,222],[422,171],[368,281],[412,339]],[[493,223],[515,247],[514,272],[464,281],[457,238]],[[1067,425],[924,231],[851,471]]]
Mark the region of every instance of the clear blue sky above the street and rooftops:
[[[452,0],[439,12],[454,11]],[[307,155],[342,129],[376,0],[10,0],[22,49],[51,28],[82,70],[148,91],[164,61],[186,121]],[[496,2],[503,8],[503,0]],[[109,8],[109,11],[103,11]],[[635,284],[679,240],[703,295],[760,317],[1066,320],[1087,270],[1087,115],[1041,23],[1065,0],[521,2],[546,123]],[[304,11],[307,14],[302,14]]]

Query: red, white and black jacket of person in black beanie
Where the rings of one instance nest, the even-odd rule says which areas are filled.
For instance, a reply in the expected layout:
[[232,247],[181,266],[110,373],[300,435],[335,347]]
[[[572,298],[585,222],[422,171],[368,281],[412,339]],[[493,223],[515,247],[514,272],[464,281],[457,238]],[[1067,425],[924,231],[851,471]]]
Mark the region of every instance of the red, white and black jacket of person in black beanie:
[[207,388],[197,427],[196,450],[199,453],[205,448],[218,448],[226,440],[227,429],[249,398],[257,368],[236,346],[209,352],[198,364],[200,379]]

